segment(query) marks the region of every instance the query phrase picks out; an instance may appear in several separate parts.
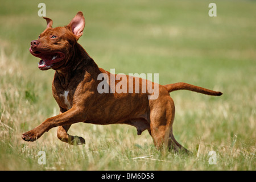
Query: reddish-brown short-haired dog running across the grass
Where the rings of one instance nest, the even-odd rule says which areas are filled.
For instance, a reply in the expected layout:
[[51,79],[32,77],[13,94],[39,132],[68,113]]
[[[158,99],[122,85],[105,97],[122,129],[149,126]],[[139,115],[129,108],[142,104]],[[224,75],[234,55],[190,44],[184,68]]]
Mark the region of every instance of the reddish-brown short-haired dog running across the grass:
[[[60,107],[60,114],[46,119],[35,129],[24,133],[22,139],[26,141],[32,142],[52,127],[58,126],[57,137],[61,141],[84,144],[83,138],[67,133],[73,123],[120,123],[135,126],[138,135],[148,130],[158,149],[178,150],[183,147],[172,134],[175,106],[169,92],[186,89],[212,96],[222,94],[185,83],[162,86],[133,76],[122,76],[122,80],[117,79],[118,75],[98,68],[84,48],[77,43],[85,26],[81,12],[77,13],[65,27],[52,28],[52,20],[44,19],[47,21],[47,28],[40,34],[38,40],[31,42],[30,52],[42,59],[38,65],[39,69],[52,68],[56,71],[52,93]],[[100,75],[106,77],[103,85],[103,77],[99,80]],[[114,82],[111,79],[113,77]],[[144,89],[145,81],[147,89]],[[122,86],[119,85],[121,82]],[[100,84],[106,92],[99,92]],[[152,89],[158,88],[158,97],[149,99],[156,94],[152,89],[148,89],[149,85]],[[128,93],[130,89],[137,89],[137,92]]]

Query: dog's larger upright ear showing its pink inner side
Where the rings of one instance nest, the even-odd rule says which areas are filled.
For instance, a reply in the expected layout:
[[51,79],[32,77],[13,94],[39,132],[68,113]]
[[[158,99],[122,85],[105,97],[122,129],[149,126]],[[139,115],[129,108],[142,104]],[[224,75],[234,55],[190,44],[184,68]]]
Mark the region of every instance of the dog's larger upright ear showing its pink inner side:
[[85,19],[81,11],[79,11],[76,16],[68,24],[67,28],[73,32],[78,40],[82,36],[82,31],[84,31]]

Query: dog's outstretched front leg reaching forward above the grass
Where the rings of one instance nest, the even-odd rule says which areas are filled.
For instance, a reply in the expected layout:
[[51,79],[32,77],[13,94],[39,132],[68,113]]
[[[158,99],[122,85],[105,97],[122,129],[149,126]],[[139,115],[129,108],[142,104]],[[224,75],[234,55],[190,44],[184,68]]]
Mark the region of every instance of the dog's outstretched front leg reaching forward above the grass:
[[46,131],[50,130],[52,127],[71,125],[77,122],[84,122],[86,119],[85,113],[85,110],[73,106],[65,113],[61,113],[59,115],[56,115],[55,117],[48,118],[39,126],[35,127],[35,129],[22,134],[22,139],[28,142],[33,142],[36,139],[40,138]]

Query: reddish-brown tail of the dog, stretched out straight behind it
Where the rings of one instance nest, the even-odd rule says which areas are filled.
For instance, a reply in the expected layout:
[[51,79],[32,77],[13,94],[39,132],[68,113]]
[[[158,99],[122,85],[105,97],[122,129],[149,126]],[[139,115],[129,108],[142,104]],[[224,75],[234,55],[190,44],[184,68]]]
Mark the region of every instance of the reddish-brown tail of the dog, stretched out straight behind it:
[[179,82],[179,83],[176,83],[176,84],[168,84],[168,85],[163,85],[163,86],[168,90],[168,92],[172,92],[172,91],[175,91],[175,90],[191,90],[193,92],[199,92],[199,93],[207,94],[207,95],[210,95],[210,96],[221,96],[222,95],[221,92],[208,90],[208,89],[202,88],[200,86],[186,84],[186,83],[183,83],[183,82]]

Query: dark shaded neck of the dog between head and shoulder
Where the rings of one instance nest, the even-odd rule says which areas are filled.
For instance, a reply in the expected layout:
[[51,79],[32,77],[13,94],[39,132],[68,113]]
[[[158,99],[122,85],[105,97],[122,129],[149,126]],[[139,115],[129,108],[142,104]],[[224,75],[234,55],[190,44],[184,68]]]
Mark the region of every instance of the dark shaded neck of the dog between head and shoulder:
[[90,73],[91,69],[99,70],[98,65],[79,43],[75,44],[73,50],[64,68],[57,69],[55,72],[55,77],[59,78],[64,88],[67,88],[67,84],[75,75],[79,74],[84,77],[86,73]]

